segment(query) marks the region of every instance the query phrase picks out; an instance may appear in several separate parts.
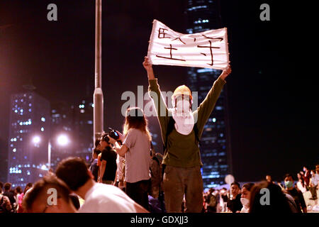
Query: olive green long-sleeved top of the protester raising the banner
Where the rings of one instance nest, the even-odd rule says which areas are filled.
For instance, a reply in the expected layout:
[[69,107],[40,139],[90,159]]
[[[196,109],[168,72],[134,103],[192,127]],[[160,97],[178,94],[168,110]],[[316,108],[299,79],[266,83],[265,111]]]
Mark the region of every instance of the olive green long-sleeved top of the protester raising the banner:
[[[193,112],[195,122],[197,119],[199,139],[201,139],[203,128],[209,116],[211,116],[211,112],[213,111],[225,83],[225,80],[218,77],[218,79],[216,79],[213,83],[213,87],[208,92],[206,98],[198,106],[196,111]],[[169,113],[171,110],[167,109],[165,101],[162,98],[159,85],[157,84],[157,79],[149,80],[149,94],[155,104],[159,126],[161,127],[163,143],[166,144],[167,126],[169,123],[169,117],[172,116],[172,113]],[[159,99],[157,99],[157,97],[159,97]],[[201,162],[198,143],[196,143],[194,129],[191,133],[189,133],[189,135],[182,135],[174,128],[167,138],[166,149],[167,150],[164,153],[164,159],[162,162],[164,165],[172,165],[174,167],[196,167],[198,165],[203,165]]]

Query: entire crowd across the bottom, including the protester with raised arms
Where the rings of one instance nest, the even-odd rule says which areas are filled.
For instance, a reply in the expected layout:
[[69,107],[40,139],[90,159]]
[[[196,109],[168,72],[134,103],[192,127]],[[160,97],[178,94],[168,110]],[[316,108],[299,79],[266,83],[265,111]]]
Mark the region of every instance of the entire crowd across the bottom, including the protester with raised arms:
[[[10,183],[1,185],[1,213],[307,212],[303,193],[310,190],[312,199],[317,199],[319,167],[311,171],[305,167],[299,172],[296,188],[293,176],[287,174],[285,186],[274,184],[267,176],[267,180],[257,184],[241,187],[233,182],[230,190],[209,189],[203,194],[198,145],[230,67],[223,70],[203,102],[192,111],[193,98],[188,87],[175,89],[173,108],[169,109],[147,57],[143,66],[161,127],[164,155],[152,148],[145,113],[130,107],[123,133],[103,133],[96,140],[91,165],[80,157],[68,157],[55,172],[49,171],[23,191],[21,187],[11,190]],[[261,203],[264,189],[269,198]]]

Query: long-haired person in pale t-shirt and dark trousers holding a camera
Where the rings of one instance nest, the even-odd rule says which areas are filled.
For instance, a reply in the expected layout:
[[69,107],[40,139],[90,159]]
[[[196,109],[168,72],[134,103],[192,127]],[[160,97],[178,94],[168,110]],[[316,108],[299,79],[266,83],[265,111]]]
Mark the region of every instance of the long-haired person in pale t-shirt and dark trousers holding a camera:
[[[118,133],[118,132],[117,132]],[[150,131],[147,119],[138,107],[126,111],[123,135],[119,133],[123,145],[111,136],[118,155],[125,156],[126,194],[145,209],[148,206],[148,192],[150,189]]]

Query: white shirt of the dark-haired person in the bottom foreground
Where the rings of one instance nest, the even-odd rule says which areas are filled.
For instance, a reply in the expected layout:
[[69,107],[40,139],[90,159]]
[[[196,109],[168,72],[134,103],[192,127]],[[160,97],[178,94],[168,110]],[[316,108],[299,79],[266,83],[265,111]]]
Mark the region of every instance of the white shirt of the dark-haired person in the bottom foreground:
[[95,183],[85,194],[79,213],[136,213],[135,201],[110,184]]

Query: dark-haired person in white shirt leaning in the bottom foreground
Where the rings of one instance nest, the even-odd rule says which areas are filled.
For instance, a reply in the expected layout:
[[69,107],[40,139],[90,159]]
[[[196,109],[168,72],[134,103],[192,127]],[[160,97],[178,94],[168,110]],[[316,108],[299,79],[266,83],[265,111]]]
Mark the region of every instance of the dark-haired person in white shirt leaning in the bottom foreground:
[[57,165],[56,175],[72,192],[84,199],[80,213],[147,213],[118,187],[94,182],[81,157],[62,160]]

